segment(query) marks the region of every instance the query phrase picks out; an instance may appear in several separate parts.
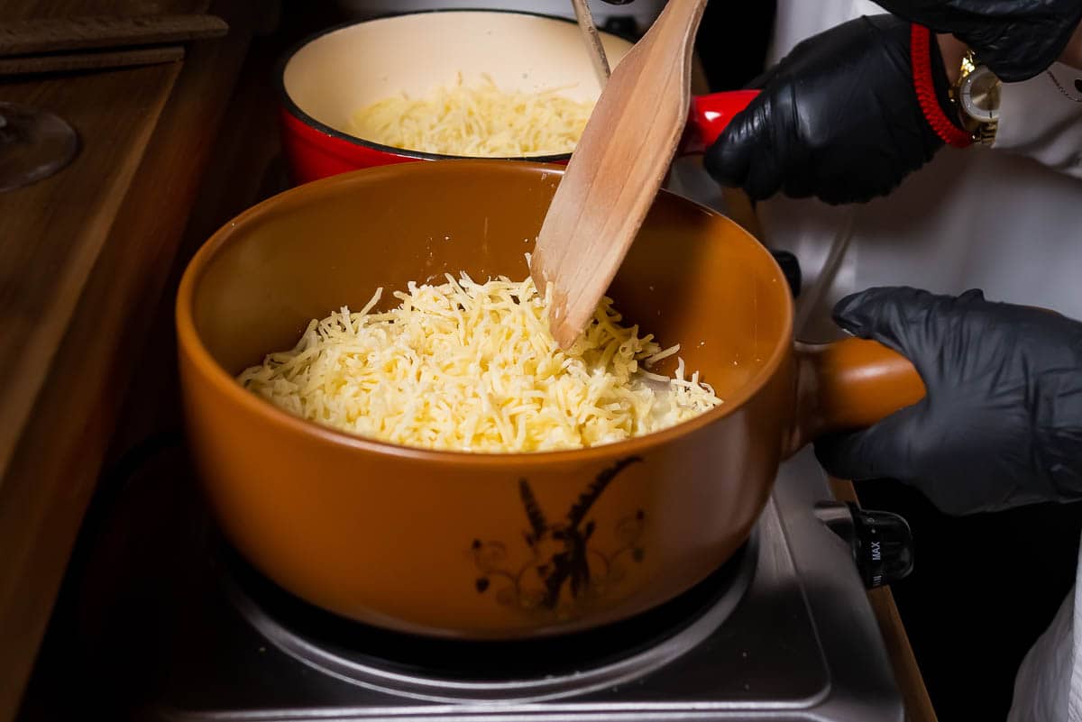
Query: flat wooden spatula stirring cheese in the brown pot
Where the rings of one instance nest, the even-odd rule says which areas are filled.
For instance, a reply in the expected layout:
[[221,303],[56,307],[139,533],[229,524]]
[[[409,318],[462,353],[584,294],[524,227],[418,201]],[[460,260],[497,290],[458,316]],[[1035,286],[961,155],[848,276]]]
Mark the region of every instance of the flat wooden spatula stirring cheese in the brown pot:
[[687,122],[707,0],[669,0],[620,61],[545,215],[530,275],[553,283],[549,325],[568,348],[593,317],[664,179]]

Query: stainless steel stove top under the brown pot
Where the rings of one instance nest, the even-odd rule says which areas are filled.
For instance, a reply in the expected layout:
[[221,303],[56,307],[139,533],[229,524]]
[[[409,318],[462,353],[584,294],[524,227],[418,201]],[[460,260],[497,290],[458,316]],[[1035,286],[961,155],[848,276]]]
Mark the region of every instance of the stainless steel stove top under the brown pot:
[[114,719],[901,722],[852,548],[817,517],[826,499],[805,451],[782,466],[750,543],[699,588],[609,629],[505,644],[332,618],[223,553],[198,513],[148,520],[142,505],[129,551],[97,552],[120,586],[103,598],[95,585],[82,616],[108,609],[64,654]]

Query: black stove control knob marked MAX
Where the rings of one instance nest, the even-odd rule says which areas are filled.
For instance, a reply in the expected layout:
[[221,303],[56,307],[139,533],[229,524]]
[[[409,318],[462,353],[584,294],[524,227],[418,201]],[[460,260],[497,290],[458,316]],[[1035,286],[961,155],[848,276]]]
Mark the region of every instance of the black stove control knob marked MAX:
[[853,549],[866,588],[887,586],[913,571],[913,534],[898,514],[861,509],[852,502],[823,503],[816,513]]

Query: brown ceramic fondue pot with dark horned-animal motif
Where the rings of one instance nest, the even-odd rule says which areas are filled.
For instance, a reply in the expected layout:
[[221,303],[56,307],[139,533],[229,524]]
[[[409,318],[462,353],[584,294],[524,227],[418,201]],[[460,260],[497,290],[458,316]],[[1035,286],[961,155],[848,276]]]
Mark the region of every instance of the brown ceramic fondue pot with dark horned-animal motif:
[[176,304],[192,451],[226,536],[279,586],[464,639],[630,617],[745,542],[781,459],[923,396],[912,365],[872,342],[794,347],[770,254],[664,191],[609,295],[725,400],[690,422],[578,451],[434,452],[295,418],[234,380],[377,286],[393,305],[390,291],[444,272],[525,278],[562,172],[464,160],[338,175],[250,209],[195,256]]

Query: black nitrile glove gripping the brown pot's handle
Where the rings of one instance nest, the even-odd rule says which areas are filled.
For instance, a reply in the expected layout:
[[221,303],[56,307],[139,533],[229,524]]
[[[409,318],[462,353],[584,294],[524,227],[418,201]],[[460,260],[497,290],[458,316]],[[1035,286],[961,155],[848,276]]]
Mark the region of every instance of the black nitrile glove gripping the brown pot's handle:
[[953,514],[1082,499],[1082,323],[909,288],[843,298],[834,320],[906,356],[927,396],[818,441],[830,473],[897,479]]

